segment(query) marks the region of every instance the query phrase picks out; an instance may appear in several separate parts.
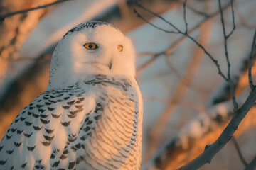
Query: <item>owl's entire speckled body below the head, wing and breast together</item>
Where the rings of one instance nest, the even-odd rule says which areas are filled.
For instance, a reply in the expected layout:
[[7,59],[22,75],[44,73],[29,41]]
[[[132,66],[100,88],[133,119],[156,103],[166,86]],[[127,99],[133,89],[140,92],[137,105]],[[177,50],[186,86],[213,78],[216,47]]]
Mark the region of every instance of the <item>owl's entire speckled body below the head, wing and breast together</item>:
[[139,169],[142,97],[134,79],[95,75],[45,91],[0,143],[0,169]]

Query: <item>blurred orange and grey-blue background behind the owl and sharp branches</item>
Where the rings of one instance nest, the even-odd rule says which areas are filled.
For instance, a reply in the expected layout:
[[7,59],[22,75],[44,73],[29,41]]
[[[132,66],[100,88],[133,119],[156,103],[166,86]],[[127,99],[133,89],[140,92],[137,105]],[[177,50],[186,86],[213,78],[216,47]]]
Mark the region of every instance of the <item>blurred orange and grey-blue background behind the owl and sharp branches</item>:
[[[6,13],[43,6],[53,0],[1,0]],[[183,1],[137,1],[181,31],[186,30]],[[227,34],[233,29],[229,0],[222,1]],[[249,95],[247,63],[256,28],[256,1],[234,1],[235,31],[228,38],[231,77],[239,106]],[[16,115],[48,85],[55,45],[73,26],[90,20],[112,23],[137,50],[137,82],[144,99],[142,169],[177,169],[214,142],[233,116],[228,84],[193,41],[134,0],[67,0],[0,21],[0,139]],[[227,74],[218,1],[188,0],[188,33],[218,60]],[[254,54],[255,55],[255,54]],[[253,67],[252,74],[255,76]],[[245,169],[256,155],[256,111],[252,108],[230,140],[201,169]],[[235,147],[237,146],[237,147]],[[245,161],[238,154],[238,148]]]

